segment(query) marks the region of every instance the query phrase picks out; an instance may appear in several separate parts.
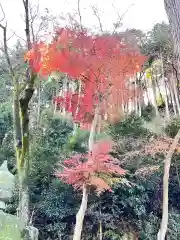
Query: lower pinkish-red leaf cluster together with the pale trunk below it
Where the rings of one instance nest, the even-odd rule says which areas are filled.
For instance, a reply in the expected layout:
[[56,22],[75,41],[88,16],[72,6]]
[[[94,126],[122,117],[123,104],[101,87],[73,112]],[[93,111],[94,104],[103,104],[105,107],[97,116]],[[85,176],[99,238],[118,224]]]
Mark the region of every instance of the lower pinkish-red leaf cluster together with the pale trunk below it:
[[[76,155],[64,162],[63,172],[56,175],[64,182],[71,184],[76,189],[82,189],[82,202],[76,215],[73,240],[81,239],[84,216],[87,209],[88,189],[95,187],[98,193],[105,190],[112,191],[107,180],[115,175],[124,175],[126,172],[109,153],[112,143],[101,140],[92,145],[88,154]],[[104,175],[104,177],[103,177]]]

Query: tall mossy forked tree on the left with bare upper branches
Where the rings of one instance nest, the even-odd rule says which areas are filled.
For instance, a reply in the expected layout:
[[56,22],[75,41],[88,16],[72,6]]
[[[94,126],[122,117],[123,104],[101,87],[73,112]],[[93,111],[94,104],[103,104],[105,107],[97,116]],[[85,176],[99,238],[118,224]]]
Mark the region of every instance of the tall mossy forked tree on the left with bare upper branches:
[[[31,48],[29,0],[22,1],[25,12],[25,35],[26,49]],[[1,7],[2,9],[2,7]],[[3,12],[3,9],[2,9]],[[13,89],[13,122],[14,122],[14,146],[16,152],[17,170],[19,177],[19,217],[28,226],[29,216],[29,103],[34,93],[36,74],[27,66],[23,72],[23,86],[21,79],[13,67],[7,45],[7,24],[3,24],[5,15],[0,23],[3,31],[4,54],[8,64],[9,75],[12,80]],[[29,233],[28,233],[29,234]]]

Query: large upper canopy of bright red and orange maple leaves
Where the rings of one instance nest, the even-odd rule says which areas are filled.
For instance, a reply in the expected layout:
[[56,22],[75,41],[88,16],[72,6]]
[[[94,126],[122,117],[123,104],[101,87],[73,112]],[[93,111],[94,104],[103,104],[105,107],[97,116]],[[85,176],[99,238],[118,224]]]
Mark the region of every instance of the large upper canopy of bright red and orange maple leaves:
[[82,81],[81,96],[70,97],[71,93],[67,93],[64,99],[56,100],[83,125],[91,123],[97,104],[102,119],[108,111],[110,115],[116,114],[122,101],[132,97],[127,85],[129,77],[146,60],[137,49],[115,36],[90,36],[71,29],[60,29],[50,44],[36,44],[25,59],[41,75],[58,71]]

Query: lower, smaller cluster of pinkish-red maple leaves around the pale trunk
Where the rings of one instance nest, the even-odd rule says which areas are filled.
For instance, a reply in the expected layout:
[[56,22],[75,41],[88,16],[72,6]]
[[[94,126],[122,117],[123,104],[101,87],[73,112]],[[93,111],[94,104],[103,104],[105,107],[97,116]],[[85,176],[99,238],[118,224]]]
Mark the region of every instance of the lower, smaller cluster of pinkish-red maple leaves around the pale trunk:
[[82,188],[85,184],[95,187],[98,192],[104,190],[111,191],[110,186],[99,174],[114,174],[118,176],[125,174],[125,170],[109,154],[111,145],[111,142],[107,140],[95,143],[91,153],[76,155],[64,161],[65,167],[63,172],[58,172],[56,175],[64,182],[73,185],[76,189]]

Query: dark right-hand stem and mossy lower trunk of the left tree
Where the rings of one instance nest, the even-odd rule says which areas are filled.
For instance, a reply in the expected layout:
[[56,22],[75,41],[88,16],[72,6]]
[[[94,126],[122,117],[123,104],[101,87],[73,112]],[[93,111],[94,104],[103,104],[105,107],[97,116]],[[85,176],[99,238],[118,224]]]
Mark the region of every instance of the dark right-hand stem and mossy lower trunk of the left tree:
[[29,177],[29,102],[34,92],[34,80],[35,75],[31,73],[30,79],[27,79],[29,83],[24,92],[24,96],[19,100],[20,103],[20,119],[21,119],[21,134],[22,134],[22,146],[18,149],[19,163],[18,174],[20,184],[20,202],[19,202],[19,217],[28,225],[29,213],[28,213],[28,177]]

